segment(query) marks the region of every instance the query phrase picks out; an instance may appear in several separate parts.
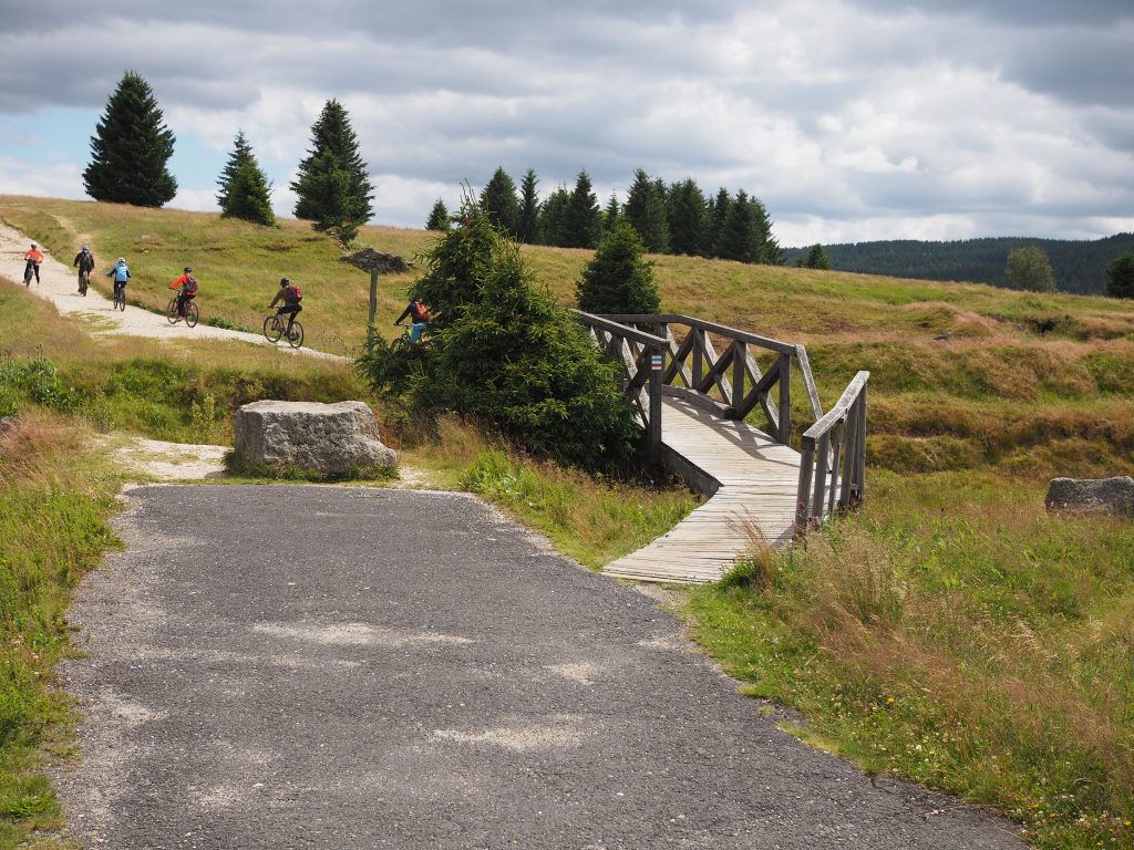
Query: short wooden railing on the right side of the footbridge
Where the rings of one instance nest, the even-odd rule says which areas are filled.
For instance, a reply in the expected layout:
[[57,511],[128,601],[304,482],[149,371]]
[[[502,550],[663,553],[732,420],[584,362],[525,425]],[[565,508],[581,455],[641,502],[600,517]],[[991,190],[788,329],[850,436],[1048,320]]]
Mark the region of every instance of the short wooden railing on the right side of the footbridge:
[[869,372],[855,375],[835,407],[803,433],[795,515],[801,533],[865,496],[869,380]]

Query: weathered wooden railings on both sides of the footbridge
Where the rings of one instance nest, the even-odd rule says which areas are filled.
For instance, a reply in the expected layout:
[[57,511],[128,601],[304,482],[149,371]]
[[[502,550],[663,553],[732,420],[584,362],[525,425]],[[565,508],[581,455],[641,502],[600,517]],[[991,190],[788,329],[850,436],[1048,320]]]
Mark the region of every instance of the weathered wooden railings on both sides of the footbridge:
[[[801,345],[677,314],[575,313],[599,346],[621,364],[626,394],[646,427],[653,460],[661,451],[663,396],[682,398],[722,419],[744,419],[759,406],[769,435],[790,445],[792,368],[796,366],[815,417],[802,440],[796,525],[803,530],[836,509],[862,501],[869,372],[855,375],[824,415],[807,351]],[[722,346],[720,354],[713,338]],[[754,350],[775,355],[767,371],[760,368]]]

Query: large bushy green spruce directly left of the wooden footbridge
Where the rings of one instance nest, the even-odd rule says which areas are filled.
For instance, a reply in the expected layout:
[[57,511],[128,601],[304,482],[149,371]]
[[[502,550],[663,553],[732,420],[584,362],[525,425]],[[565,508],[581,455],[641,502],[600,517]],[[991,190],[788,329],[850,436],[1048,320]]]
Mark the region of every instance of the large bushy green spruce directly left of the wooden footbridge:
[[462,219],[413,288],[437,316],[424,341],[375,340],[359,373],[414,411],[471,416],[543,457],[592,468],[627,460],[641,428],[613,364],[467,199]]

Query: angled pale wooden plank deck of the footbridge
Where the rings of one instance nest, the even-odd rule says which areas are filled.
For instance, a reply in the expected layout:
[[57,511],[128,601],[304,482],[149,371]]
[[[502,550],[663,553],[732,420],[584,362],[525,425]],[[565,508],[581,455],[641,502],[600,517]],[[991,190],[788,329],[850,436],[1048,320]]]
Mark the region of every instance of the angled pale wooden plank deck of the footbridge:
[[759,528],[772,545],[785,545],[795,522],[799,452],[686,401],[669,398],[662,407],[666,448],[720,488],[667,534],[607,564],[603,572],[637,581],[708,584],[748,550],[747,529]]

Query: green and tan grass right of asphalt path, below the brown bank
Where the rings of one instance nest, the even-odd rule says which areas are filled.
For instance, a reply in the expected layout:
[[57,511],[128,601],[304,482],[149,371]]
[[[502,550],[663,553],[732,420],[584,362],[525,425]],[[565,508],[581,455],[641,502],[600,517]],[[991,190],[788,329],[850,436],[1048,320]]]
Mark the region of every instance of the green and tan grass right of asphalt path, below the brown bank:
[[995,806],[1036,847],[1134,847],[1134,527],[988,475],[875,475],[858,516],[754,553],[694,631],[802,734]]

